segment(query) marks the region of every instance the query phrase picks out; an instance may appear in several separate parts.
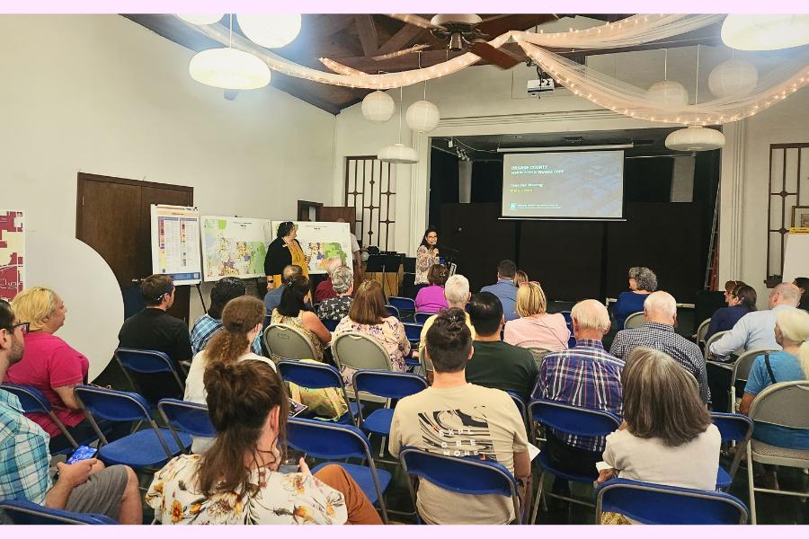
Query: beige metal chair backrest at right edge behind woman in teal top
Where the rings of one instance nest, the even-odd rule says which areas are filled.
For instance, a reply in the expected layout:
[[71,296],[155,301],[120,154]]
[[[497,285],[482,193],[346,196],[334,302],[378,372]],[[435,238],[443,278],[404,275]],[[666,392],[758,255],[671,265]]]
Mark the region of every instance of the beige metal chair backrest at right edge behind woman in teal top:
[[750,406],[753,421],[792,429],[809,429],[809,380],[772,384]]

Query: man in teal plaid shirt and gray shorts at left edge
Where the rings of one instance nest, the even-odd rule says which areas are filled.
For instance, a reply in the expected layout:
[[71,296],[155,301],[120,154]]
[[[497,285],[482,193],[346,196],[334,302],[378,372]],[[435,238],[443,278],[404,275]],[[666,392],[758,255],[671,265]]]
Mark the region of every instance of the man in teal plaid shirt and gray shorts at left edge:
[[[61,310],[58,316],[64,314]],[[22,361],[28,324],[0,300],[0,379]],[[138,477],[128,466],[105,468],[94,458],[58,463],[58,480],[53,482],[49,435],[22,415],[21,408],[16,395],[0,390],[0,501],[27,499],[47,508],[104,515],[120,524],[143,522]]]

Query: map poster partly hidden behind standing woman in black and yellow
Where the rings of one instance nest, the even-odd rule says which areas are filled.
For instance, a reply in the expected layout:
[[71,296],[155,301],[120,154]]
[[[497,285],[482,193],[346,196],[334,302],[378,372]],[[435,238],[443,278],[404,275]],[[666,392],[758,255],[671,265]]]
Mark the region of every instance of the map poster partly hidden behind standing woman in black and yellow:
[[[276,237],[278,225],[283,221],[272,221],[271,234],[267,239]],[[351,268],[351,233],[348,223],[328,223],[310,221],[293,221],[305,255],[309,257],[309,273],[325,273],[324,262],[334,256],[342,259],[343,265]]]

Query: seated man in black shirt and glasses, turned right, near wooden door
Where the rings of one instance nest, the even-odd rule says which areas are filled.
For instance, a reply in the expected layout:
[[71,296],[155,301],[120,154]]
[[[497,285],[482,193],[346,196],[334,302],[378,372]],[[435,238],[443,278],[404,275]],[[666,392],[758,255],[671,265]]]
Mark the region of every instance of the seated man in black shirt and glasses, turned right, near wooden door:
[[[165,312],[174,303],[173,277],[150,275],[140,284],[140,293],[147,308],[133,314],[123,323],[118,333],[118,346],[163,352],[172,360],[174,369],[181,379],[184,378],[180,362],[190,360],[192,357],[188,325]],[[170,373],[150,375],[130,373],[130,375],[142,392],[154,392],[143,395],[149,402],[158,395],[168,396],[179,391],[177,382]],[[179,391],[179,395],[182,399],[182,391]]]

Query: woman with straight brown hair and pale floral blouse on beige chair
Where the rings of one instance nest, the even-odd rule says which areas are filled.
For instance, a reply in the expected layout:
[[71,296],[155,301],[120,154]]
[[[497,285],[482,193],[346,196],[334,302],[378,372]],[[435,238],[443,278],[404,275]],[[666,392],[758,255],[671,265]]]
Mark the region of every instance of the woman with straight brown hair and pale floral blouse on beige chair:
[[[334,330],[334,339],[342,333],[362,333],[379,341],[390,355],[391,368],[405,372],[405,356],[410,353],[410,341],[405,334],[405,326],[396,316],[387,313],[385,296],[378,281],[363,281],[354,295],[348,316],[345,316]],[[342,377],[346,385],[351,385],[355,369],[342,367]]]

